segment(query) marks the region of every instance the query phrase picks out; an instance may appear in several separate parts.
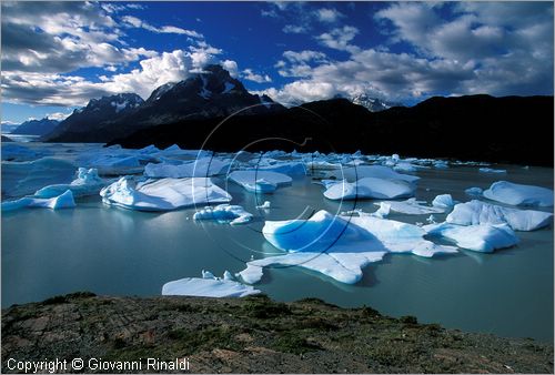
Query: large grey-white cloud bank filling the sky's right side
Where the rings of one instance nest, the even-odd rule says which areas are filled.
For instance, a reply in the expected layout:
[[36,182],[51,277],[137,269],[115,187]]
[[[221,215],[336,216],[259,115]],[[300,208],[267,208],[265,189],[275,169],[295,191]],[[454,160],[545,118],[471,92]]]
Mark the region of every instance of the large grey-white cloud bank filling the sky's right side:
[[552,3],[401,2],[379,11],[375,20],[389,43],[403,43],[405,52],[360,48],[356,28],[335,28],[316,40],[347,52],[347,59],[286,51],[275,68],[299,80],[261,93],[290,105],[363,92],[392,101],[553,94]]

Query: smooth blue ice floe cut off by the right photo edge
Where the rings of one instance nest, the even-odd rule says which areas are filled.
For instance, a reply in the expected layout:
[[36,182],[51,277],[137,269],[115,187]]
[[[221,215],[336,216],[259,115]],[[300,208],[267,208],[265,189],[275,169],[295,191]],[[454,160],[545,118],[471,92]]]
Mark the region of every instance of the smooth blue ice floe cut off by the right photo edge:
[[490,189],[484,191],[484,196],[511,205],[553,206],[553,190],[508,181],[494,182]]

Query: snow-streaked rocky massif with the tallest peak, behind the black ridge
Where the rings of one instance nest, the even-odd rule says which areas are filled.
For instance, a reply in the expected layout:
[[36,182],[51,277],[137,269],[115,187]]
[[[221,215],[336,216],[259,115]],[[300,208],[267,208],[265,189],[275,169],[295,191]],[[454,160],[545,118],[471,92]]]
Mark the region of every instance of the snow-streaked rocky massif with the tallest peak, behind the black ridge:
[[[57,142],[108,142],[139,129],[160,124],[222,118],[235,112],[239,115],[250,115],[284,110],[265,95],[251,94],[220,65],[209,65],[202,73],[193,74],[186,80],[163,84],[144,102],[137,97],[139,99],[131,107],[115,107],[121,108],[119,112],[114,112],[115,108],[111,109],[109,105],[112,98],[114,97],[91,101],[75,119],[72,119],[72,114],[47,139]],[[101,110],[99,103],[105,110]],[[101,118],[95,116],[95,113],[101,114]],[[93,120],[89,121],[91,115]],[[78,122],[74,121],[78,119]],[[83,125],[85,121],[87,125]]]

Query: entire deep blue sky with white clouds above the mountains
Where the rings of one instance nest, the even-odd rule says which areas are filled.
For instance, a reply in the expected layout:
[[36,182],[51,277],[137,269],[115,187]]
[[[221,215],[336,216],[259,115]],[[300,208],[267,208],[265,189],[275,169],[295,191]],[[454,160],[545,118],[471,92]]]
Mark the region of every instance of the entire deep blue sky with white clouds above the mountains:
[[552,2],[2,2],[2,121],[221,63],[284,104],[553,94]]

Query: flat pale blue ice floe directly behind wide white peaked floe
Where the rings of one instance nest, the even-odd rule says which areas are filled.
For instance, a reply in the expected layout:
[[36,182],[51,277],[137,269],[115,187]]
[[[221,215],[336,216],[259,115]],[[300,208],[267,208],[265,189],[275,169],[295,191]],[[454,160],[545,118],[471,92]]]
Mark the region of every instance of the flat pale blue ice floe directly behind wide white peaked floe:
[[149,163],[144,166],[144,175],[152,179],[209,178],[225,173],[230,163],[216,158],[201,158],[195,161],[173,163]]

